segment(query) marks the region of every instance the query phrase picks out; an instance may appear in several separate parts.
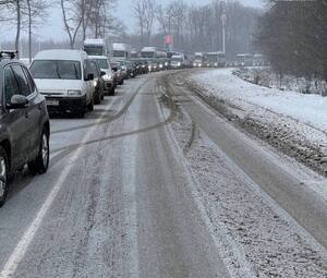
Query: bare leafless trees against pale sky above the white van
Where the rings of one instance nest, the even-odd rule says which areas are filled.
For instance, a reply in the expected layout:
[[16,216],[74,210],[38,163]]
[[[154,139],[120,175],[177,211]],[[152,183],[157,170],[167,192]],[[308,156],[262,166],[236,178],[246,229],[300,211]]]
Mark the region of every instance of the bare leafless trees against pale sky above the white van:
[[35,29],[47,22],[51,9],[60,8],[69,45],[86,36],[106,37],[123,33],[123,24],[112,14],[117,0],[0,0],[0,22],[15,26],[15,49],[20,49],[22,31],[28,33],[28,57],[33,55]]

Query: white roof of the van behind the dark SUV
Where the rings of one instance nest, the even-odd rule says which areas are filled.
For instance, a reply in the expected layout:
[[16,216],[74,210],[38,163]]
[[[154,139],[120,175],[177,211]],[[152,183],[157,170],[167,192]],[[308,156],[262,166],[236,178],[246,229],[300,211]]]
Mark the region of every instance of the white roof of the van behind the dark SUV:
[[35,56],[34,60],[66,60],[66,61],[80,61],[87,59],[87,55],[82,50],[71,49],[52,49],[44,50]]

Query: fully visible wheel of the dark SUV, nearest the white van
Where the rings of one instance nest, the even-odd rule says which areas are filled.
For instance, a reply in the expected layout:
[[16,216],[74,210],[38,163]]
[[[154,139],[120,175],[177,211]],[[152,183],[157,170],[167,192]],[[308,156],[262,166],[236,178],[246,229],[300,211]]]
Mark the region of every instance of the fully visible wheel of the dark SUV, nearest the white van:
[[50,160],[49,134],[46,129],[43,130],[40,145],[37,157],[27,164],[33,174],[43,174],[48,171]]

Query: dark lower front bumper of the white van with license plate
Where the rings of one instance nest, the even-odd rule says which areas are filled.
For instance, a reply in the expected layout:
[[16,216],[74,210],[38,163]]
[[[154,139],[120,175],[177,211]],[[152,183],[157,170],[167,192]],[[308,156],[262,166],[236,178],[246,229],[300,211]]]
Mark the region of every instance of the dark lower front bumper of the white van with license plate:
[[46,97],[49,112],[52,111],[81,111],[86,107],[86,96],[81,97]]

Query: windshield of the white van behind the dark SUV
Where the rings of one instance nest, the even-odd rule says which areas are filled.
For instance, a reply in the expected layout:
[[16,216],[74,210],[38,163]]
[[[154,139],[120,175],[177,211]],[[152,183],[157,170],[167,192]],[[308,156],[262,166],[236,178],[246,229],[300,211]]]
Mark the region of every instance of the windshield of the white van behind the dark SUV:
[[49,80],[81,80],[81,62],[37,60],[31,65],[34,78]]

